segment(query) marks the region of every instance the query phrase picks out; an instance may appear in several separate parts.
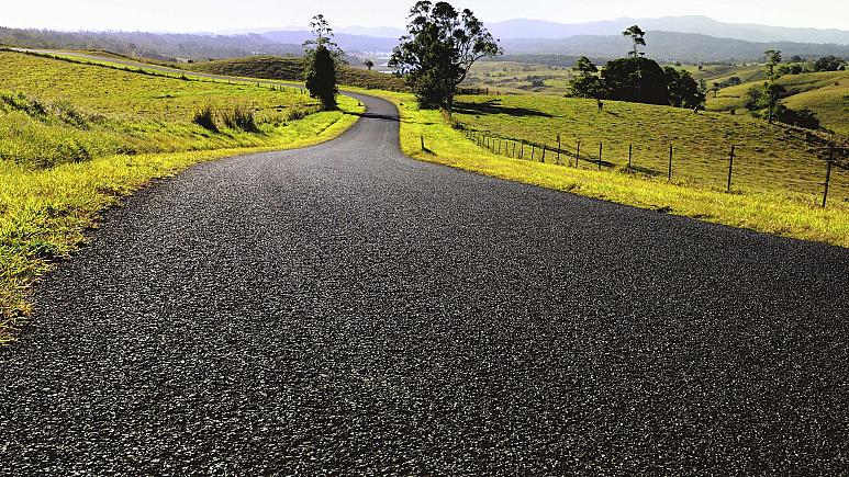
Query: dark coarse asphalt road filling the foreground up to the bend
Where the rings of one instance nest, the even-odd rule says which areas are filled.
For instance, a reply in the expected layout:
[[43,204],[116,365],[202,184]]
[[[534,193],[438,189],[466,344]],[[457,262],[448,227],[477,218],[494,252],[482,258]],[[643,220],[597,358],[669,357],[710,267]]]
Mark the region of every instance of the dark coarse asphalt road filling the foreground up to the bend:
[[107,215],[0,350],[0,474],[849,473],[849,250],[417,162],[362,100]]

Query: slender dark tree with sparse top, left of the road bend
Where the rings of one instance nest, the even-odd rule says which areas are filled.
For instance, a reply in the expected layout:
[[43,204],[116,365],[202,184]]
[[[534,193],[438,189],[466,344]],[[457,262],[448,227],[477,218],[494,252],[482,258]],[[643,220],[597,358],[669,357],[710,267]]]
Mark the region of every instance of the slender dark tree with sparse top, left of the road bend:
[[324,15],[313,16],[310,23],[314,39],[304,42],[304,79],[310,96],[317,98],[325,110],[336,109],[336,64],[342,58],[342,50],[333,42],[333,29]]

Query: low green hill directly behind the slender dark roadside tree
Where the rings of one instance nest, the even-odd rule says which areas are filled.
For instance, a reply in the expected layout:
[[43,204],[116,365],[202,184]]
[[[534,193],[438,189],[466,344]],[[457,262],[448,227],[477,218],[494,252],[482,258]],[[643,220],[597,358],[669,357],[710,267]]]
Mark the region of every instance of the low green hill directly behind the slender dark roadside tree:
[[[243,78],[276,79],[282,81],[302,81],[303,61],[301,58],[279,56],[250,56],[246,58],[215,60],[181,65],[191,71],[212,75],[226,75]],[[404,91],[404,80],[392,75],[344,66],[338,71],[340,84],[381,89],[387,91]]]

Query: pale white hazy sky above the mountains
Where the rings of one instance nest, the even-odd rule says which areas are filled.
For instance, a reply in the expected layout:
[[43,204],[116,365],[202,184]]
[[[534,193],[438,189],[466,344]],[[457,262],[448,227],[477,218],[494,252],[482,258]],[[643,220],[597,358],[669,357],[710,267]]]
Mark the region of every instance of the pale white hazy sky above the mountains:
[[[414,0],[0,0],[0,26],[214,32],[306,25],[403,26]],[[479,19],[577,23],[702,14],[736,23],[849,29],[849,0],[457,0]]]

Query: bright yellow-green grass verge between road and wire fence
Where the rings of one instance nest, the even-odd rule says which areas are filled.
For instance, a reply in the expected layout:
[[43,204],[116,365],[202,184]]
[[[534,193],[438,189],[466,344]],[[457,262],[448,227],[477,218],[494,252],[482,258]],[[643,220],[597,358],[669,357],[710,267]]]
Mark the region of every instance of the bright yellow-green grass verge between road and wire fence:
[[[415,159],[571,192],[640,208],[803,240],[849,247],[849,204],[822,208],[808,197],[780,193],[727,194],[617,171],[578,170],[490,154],[447,125],[436,111],[420,111],[412,94],[357,91],[393,102],[401,112],[401,149]],[[422,151],[424,137],[427,151]]]

